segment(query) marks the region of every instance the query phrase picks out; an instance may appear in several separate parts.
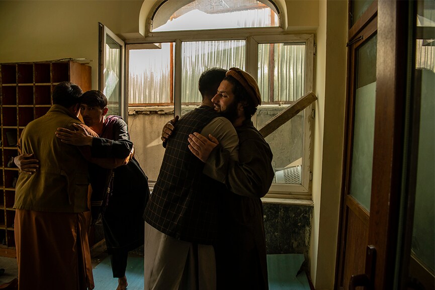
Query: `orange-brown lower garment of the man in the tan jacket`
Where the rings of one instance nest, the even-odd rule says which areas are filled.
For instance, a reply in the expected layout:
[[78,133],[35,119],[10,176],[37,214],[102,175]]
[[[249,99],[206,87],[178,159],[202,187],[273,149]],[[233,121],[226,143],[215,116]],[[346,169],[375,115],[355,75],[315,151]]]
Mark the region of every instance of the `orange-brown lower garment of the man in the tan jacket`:
[[16,210],[19,290],[94,288],[85,213]]

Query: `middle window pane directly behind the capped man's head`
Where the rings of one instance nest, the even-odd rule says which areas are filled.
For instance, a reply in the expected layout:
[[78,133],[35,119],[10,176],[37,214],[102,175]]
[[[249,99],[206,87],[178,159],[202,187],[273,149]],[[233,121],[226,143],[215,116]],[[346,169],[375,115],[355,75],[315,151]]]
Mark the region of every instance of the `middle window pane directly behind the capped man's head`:
[[201,104],[198,79],[212,67],[244,69],[246,44],[244,40],[194,41],[182,44],[182,115]]

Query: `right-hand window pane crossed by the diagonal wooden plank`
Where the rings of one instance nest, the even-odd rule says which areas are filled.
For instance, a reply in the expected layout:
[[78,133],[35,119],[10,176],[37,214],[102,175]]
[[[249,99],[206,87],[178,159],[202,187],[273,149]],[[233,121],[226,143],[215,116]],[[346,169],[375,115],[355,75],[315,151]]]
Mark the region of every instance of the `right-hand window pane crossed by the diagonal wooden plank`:
[[[305,43],[258,44],[258,86],[262,106],[256,127],[287,109],[304,95]],[[302,183],[304,111],[266,137],[275,169],[274,183]]]

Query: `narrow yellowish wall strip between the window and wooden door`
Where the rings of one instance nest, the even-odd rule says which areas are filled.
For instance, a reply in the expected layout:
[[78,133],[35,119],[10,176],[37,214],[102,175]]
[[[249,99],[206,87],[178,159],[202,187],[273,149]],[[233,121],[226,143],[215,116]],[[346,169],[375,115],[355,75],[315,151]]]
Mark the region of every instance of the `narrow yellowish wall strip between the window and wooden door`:
[[311,275],[316,290],[333,289],[343,162],[347,2],[319,2],[314,129]]

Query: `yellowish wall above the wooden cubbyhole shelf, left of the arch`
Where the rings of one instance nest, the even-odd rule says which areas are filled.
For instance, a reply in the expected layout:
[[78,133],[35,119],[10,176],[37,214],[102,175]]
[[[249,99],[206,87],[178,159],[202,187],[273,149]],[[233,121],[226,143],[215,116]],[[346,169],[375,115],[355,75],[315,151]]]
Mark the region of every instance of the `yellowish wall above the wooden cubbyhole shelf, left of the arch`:
[[142,3],[0,1],[0,62],[86,58],[98,89],[98,23],[117,33],[138,31]]

